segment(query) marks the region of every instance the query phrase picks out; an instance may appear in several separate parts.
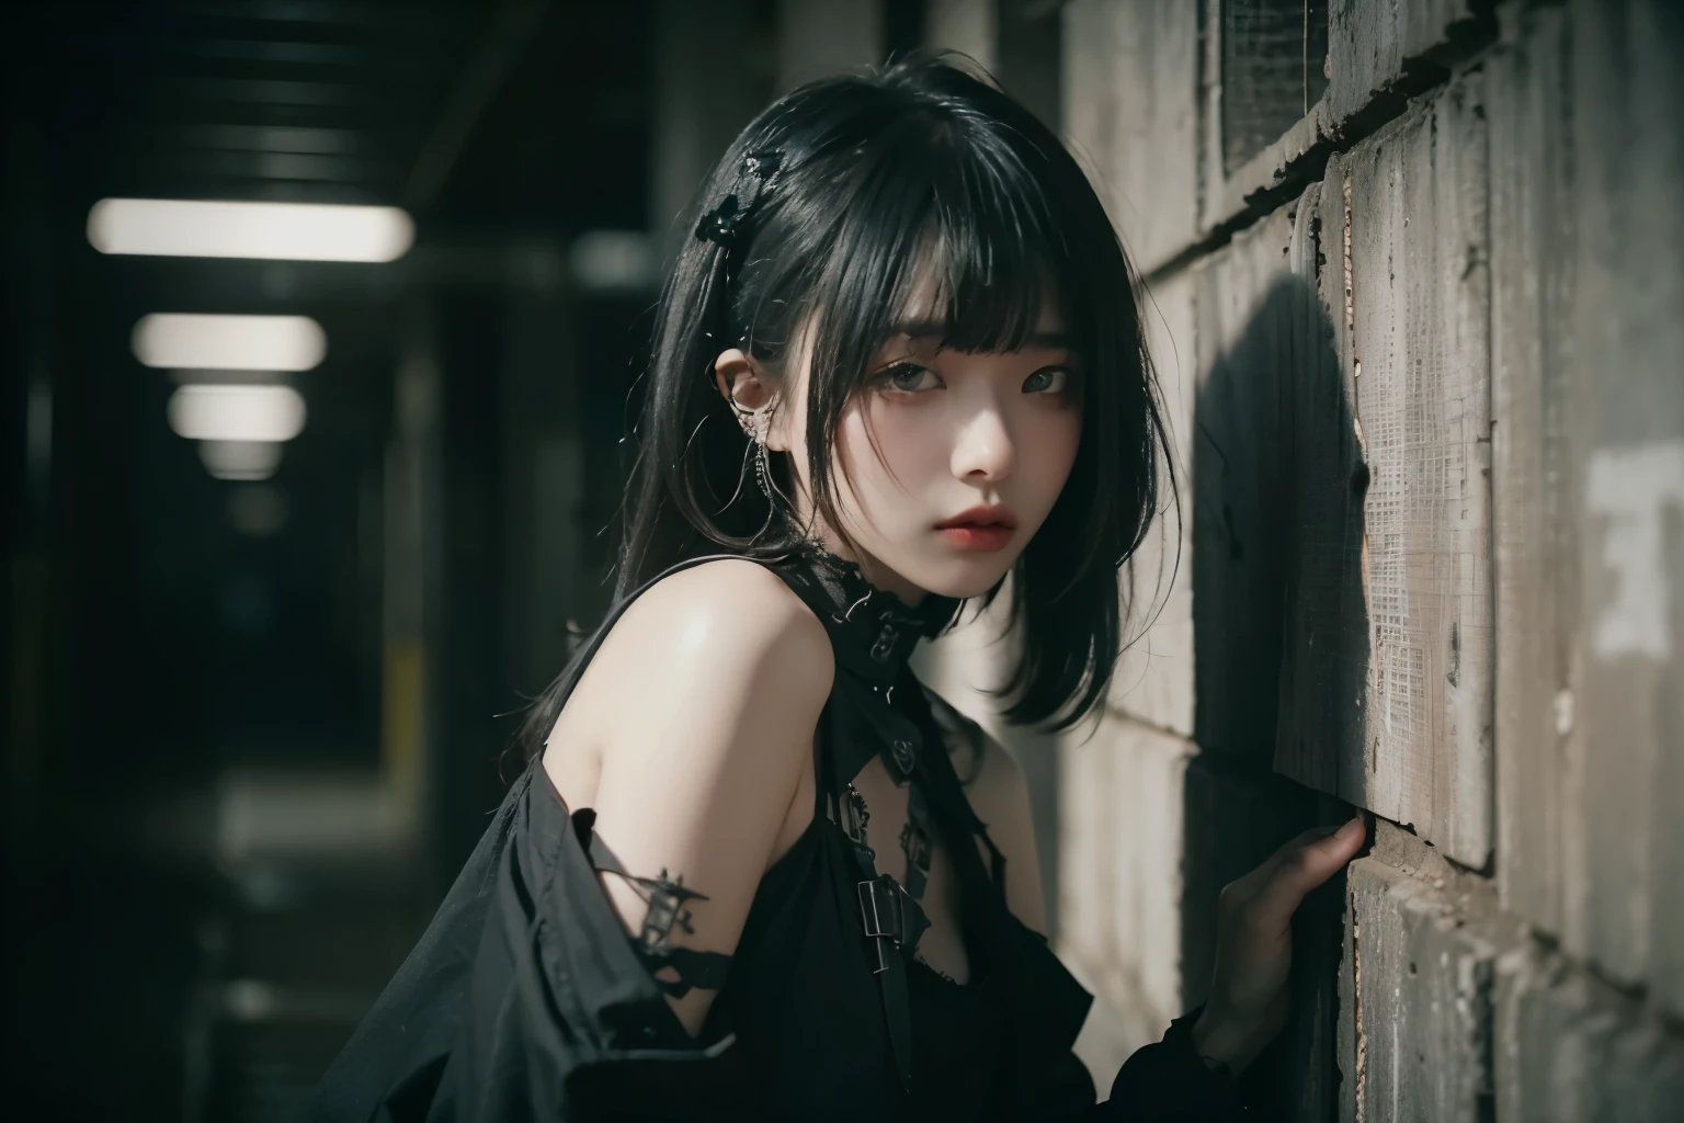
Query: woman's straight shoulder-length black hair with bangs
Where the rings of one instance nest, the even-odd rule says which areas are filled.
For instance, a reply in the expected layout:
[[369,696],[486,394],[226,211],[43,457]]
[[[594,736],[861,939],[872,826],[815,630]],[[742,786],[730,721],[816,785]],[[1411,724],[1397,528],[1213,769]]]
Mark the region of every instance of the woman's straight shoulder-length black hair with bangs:
[[[758,153],[775,153],[770,178]],[[1120,567],[1157,510],[1169,446],[1133,276],[1076,160],[963,61],[913,56],[765,109],[702,184],[685,234],[701,216],[717,227],[721,205],[738,207],[731,236],[685,236],[662,293],[615,594],[685,557],[775,557],[807,534],[743,485],[748,443],[714,386],[722,350],[741,347],[778,379],[810,322],[807,476],[815,512],[840,527],[839,419],[919,271],[933,269],[930,318],[957,350],[1017,350],[1056,301],[1081,357],[1081,441],[1012,571],[1021,658],[999,694],[1015,724],[1081,721],[1105,699],[1122,648]],[[791,493],[785,456],[773,461],[778,490]],[[557,716],[557,687],[529,714],[529,751]]]

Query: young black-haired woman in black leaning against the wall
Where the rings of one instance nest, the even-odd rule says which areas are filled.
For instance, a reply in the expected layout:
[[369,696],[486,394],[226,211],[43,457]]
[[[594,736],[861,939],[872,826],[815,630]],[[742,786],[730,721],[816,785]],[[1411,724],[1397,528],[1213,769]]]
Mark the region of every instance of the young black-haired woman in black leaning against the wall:
[[1022,773],[906,665],[1009,589],[1007,717],[1105,699],[1164,433],[1093,189],[999,89],[911,61],[766,109],[694,231],[616,608],[320,1115],[1238,1115],[1292,913],[1362,823],[1224,891],[1209,1003],[1095,1104]]

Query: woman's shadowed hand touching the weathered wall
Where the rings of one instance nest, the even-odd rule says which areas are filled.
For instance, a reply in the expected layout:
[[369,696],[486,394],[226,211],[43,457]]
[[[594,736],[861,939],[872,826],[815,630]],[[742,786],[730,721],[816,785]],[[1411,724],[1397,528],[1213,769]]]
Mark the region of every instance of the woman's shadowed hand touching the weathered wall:
[[1305,894],[1362,847],[1362,817],[1303,832],[1223,887],[1216,904],[1216,973],[1192,1046],[1236,1074],[1287,1025],[1292,914]]

